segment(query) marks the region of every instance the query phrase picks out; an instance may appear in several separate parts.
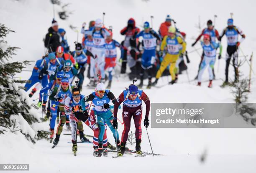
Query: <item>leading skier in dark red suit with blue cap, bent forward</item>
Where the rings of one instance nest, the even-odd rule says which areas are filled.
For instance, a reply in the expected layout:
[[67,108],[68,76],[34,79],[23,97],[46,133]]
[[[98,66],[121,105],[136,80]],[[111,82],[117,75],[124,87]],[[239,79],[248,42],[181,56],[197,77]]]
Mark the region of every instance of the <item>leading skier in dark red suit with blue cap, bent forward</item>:
[[122,142],[120,146],[120,150],[118,151],[118,155],[122,156],[125,153],[125,145],[128,138],[128,132],[131,127],[131,118],[133,117],[134,125],[136,128],[135,137],[136,137],[136,153],[141,154],[141,119],[142,119],[142,100],[146,104],[146,115],[144,119],[144,126],[146,128],[149,125],[148,114],[150,110],[150,101],[146,93],[142,90],[138,90],[138,87],[134,84],[129,86],[129,89],[124,90],[115,102],[114,105],[114,120],[113,127],[118,127],[117,122],[117,113],[118,107],[123,102],[123,123],[124,130],[122,133]]

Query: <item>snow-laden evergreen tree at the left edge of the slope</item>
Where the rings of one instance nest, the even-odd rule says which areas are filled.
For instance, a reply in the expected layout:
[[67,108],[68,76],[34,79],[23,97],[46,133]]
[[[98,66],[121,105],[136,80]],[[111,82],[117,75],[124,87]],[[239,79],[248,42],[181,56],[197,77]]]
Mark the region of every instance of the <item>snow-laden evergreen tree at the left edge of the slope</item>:
[[28,81],[14,78],[30,61],[11,61],[18,47],[8,46],[4,40],[10,32],[14,33],[0,24],[0,134],[21,132],[27,140],[35,143],[37,139],[46,138],[49,133],[40,124],[36,105],[28,97],[24,87],[19,86]]

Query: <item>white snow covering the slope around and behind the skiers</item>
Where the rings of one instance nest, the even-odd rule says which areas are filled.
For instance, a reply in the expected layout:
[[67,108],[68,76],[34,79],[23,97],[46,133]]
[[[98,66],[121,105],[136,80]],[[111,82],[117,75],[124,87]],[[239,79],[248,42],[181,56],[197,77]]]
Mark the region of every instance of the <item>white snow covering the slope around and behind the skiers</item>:
[[[196,1],[167,1],[150,0],[148,3],[139,0],[112,0],[106,1],[87,1],[87,0],[62,0],[63,3],[72,3],[69,5],[74,14],[68,20],[60,20],[56,15],[59,27],[65,28],[71,48],[77,39],[77,33],[68,26],[74,25],[80,27],[82,22],[89,23],[90,20],[102,17],[105,12],[106,26],[112,25],[114,35],[117,41],[122,41],[119,31],[122,29],[128,18],[135,18],[138,25],[146,20],[150,21],[150,15],[154,15],[154,29],[158,30],[161,22],[164,21],[166,14],[170,14],[177,21],[177,27],[187,33],[188,51],[194,49],[190,47],[199,30],[195,28],[200,15],[201,23],[205,27],[206,21],[216,14],[216,28],[220,31],[226,26],[226,20],[230,17],[230,12],[234,13],[234,23],[238,25],[246,34],[246,40],[241,44],[241,48],[246,55],[250,55],[255,50],[256,36],[253,26],[255,24],[254,7],[256,2],[253,0],[244,1],[221,1],[216,0],[210,6],[203,0]],[[239,5],[238,5],[239,4]],[[232,9],[232,11],[229,11]],[[56,12],[60,10],[55,6]],[[44,54],[44,38],[47,29],[51,25],[52,5],[50,1],[40,0],[1,0],[0,1],[1,23],[13,29],[16,33],[8,35],[8,44],[17,46],[21,49],[17,51],[17,56],[13,61],[37,60]],[[82,35],[79,35],[79,39]],[[193,38],[193,39],[192,39]],[[225,56],[226,40],[223,38],[223,56]],[[199,44],[196,47],[200,47]],[[201,52],[201,51],[200,51]],[[197,73],[197,66],[200,57],[196,52],[189,54],[191,61],[188,64],[189,78],[193,79]],[[32,69],[28,66],[28,70]],[[215,64],[216,78],[224,79],[225,61],[220,60],[220,68],[217,71],[218,61]],[[253,67],[256,66],[254,58]],[[244,76],[248,76],[248,64],[241,68]],[[255,69],[255,68],[254,68]],[[255,71],[256,72],[256,71]],[[21,79],[28,79],[29,72],[17,74]],[[233,69],[230,67],[230,76],[233,77]],[[203,80],[207,80],[208,74],[205,71]],[[113,88],[111,91],[118,96],[125,86],[131,84],[127,76],[114,77]],[[169,77],[170,80],[170,77]],[[256,102],[256,84],[253,74],[252,92],[249,95],[248,102]],[[85,82],[87,84],[88,81]],[[147,81],[145,81],[146,83]],[[207,88],[207,82],[202,83],[201,87],[195,86],[196,81],[188,83],[186,74],[179,76],[179,83],[173,86],[166,85],[161,88],[144,89],[151,99],[151,102],[233,102],[233,96],[230,89],[221,89],[222,80],[216,80],[213,88]],[[158,86],[168,83],[167,77],[159,80]],[[84,85],[85,85],[84,84]],[[92,89],[84,86],[82,94],[90,94]],[[33,97],[37,98],[37,94]],[[120,112],[118,117],[121,119]],[[238,119],[243,119],[238,117]],[[133,121],[133,120],[132,120]],[[48,122],[44,123],[47,127]],[[143,151],[150,152],[150,146],[146,131],[143,128],[141,147]],[[123,127],[119,124],[118,131],[121,133]],[[92,131],[84,126],[86,134],[92,135]],[[131,131],[135,131],[131,127]],[[30,164],[28,172],[50,172],[64,173],[75,171],[94,171],[94,172],[198,172],[198,173],[253,173],[255,172],[256,151],[256,131],[254,128],[230,128],[230,129],[199,129],[199,128],[148,128],[154,153],[164,154],[164,156],[146,156],[144,158],[124,158],[113,159],[93,158],[92,145],[78,144],[77,157],[72,154],[72,144],[67,143],[71,140],[68,135],[61,135],[59,145],[51,149],[48,141],[38,141],[36,145],[26,141],[20,134],[8,133],[0,135],[0,164],[19,163]],[[114,144],[111,132],[108,130],[109,141]],[[128,145],[134,149],[134,145]],[[207,151],[205,162],[200,162],[200,156]]]

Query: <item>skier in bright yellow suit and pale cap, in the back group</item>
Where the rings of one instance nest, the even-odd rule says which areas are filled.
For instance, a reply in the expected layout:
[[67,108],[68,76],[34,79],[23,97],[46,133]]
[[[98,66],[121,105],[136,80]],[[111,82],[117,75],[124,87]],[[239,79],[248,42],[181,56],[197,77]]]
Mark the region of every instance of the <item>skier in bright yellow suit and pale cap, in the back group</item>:
[[176,28],[173,26],[170,26],[168,30],[168,35],[164,36],[164,39],[161,43],[161,52],[163,52],[164,48],[166,47],[167,53],[164,56],[163,61],[161,62],[161,66],[156,73],[156,80],[152,85],[157,84],[158,79],[161,77],[162,73],[164,72],[164,70],[169,64],[171,64],[169,72],[172,76],[172,81],[170,82],[170,84],[175,83],[174,69],[175,69],[176,61],[179,59],[180,45],[182,46],[181,53],[183,54],[186,50],[186,43],[182,40],[180,36],[176,35]]

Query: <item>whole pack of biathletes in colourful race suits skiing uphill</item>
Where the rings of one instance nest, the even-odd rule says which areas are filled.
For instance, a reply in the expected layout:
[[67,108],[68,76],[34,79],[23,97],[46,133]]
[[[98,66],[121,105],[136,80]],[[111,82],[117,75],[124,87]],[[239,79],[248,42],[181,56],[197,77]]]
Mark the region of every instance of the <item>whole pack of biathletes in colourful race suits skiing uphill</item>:
[[[112,36],[112,28],[105,28],[102,20],[97,19],[91,21],[89,28],[85,29],[85,23],[82,24],[81,33],[83,38],[81,43],[75,42],[75,50],[70,51],[69,44],[65,38],[66,31],[58,27],[56,20],[52,21],[51,27],[48,29],[44,40],[44,46],[47,49],[46,55],[42,59],[36,61],[29,82],[26,83],[26,91],[37,84],[29,94],[30,97],[43,87],[39,94],[38,107],[42,107],[46,112],[46,119],[51,116],[50,129],[51,141],[54,138],[54,127],[56,118],[59,125],[56,130],[54,146],[59,142],[62,127],[66,123],[69,129],[72,129],[73,151],[77,151],[77,134],[83,142],[89,140],[83,134],[82,122],[88,125],[94,132],[93,145],[94,155],[106,155],[107,147],[113,147],[108,143],[106,136],[106,126],[110,128],[118,144],[119,155],[125,152],[125,144],[130,130],[131,117],[135,120],[136,127],[136,151],[141,153],[141,118],[142,109],[141,101],[146,104],[146,116],[144,126],[148,127],[148,113],[150,102],[148,96],[141,90],[143,87],[143,79],[148,78],[147,89],[155,86],[159,78],[169,73],[172,81],[169,84],[175,84],[178,80],[178,74],[187,69],[184,63],[184,56],[189,63],[187,56],[185,41],[186,34],[179,31],[175,25],[172,25],[172,18],[166,16],[164,23],[161,23],[159,31],[154,31],[148,22],[143,24],[143,31],[136,27],[133,18],[128,20],[120,34],[125,36],[124,41],[118,43]],[[203,37],[201,46],[203,49],[201,61],[199,64],[198,86],[201,85],[203,71],[208,66],[209,84],[212,87],[212,80],[215,78],[214,64],[216,58],[216,50],[220,48],[218,58],[221,58],[222,46],[220,44],[223,36],[227,37],[228,47],[226,55],[226,79],[223,85],[228,81],[228,67],[231,56],[233,56],[233,66],[235,69],[235,82],[238,81],[238,47],[245,38],[245,35],[235,25],[233,19],[228,19],[228,26],[223,30],[221,35],[214,28],[211,20],[207,21],[207,28],[203,29],[200,36],[192,44],[195,46],[197,41]],[[238,40],[238,35],[241,39]],[[139,41],[139,38],[142,41]],[[219,41],[219,42],[218,42]],[[121,57],[118,60],[117,47],[121,50]],[[113,79],[113,71],[117,64],[121,62],[121,74],[126,73],[126,66],[131,69],[129,78],[140,79],[138,86],[132,84],[127,90],[115,98],[110,89]],[[96,87],[95,92],[85,97],[80,94],[87,68],[87,77],[89,78],[87,86]],[[168,72],[167,72],[168,73]],[[99,81],[100,76],[100,81]],[[152,82],[152,77],[155,81]],[[75,78],[78,79],[74,80]],[[105,87],[105,82],[108,85]],[[75,84],[74,84],[74,81]],[[38,87],[39,86],[39,87]],[[50,93],[50,94],[49,94]],[[48,100],[49,96],[49,100]],[[48,101],[48,102],[47,102]],[[114,107],[111,109],[109,102],[112,101]],[[91,103],[89,103],[91,102]],[[122,140],[119,140],[117,132],[117,112],[118,107],[123,102],[123,123],[125,129],[123,131]],[[48,103],[48,107],[46,104]],[[93,105],[93,109],[91,108]],[[46,110],[47,107],[47,110]],[[59,120],[60,119],[60,120]]]

